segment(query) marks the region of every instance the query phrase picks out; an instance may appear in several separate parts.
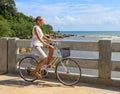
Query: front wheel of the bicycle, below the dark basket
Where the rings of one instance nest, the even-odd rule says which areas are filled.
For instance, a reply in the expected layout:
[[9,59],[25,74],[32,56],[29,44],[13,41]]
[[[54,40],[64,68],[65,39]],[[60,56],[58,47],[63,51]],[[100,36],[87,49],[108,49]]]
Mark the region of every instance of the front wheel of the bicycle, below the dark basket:
[[64,85],[77,84],[81,78],[81,69],[78,63],[70,58],[62,59],[55,69],[58,80]]

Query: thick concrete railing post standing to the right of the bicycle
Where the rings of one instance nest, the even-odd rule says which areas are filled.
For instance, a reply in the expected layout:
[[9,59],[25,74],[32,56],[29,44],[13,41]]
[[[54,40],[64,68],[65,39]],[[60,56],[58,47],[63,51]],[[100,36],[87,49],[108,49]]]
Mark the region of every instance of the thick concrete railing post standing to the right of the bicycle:
[[111,84],[111,40],[99,40],[99,82]]

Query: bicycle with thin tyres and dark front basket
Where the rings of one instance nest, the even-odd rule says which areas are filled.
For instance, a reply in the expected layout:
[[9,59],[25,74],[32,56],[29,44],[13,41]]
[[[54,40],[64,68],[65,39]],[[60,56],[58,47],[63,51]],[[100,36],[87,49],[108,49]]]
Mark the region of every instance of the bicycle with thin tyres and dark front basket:
[[[58,48],[57,42],[53,42],[52,45],[53,44],[56,48],[57,56],[52,59],[50,68],[55,70],[55,75],[62,84],[68,86],[77,84],[81,78],[81,68],[75,60],[69,57],[70,48]],[[38,58],[36,59],[36,55],[32,54],[23,57],[19,61],[18,66],[20,77],[28,82],[37,80],[38,78],[31,74],[37,64]],[[47,68],[47,65],[44,65],[39,73],[42,77],[47,77],[50,68]]]

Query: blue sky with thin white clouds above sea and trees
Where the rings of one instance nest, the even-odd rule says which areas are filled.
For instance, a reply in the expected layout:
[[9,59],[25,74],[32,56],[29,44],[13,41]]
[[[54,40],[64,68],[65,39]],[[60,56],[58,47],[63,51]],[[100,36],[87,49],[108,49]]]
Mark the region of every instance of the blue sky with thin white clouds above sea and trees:
[[120,31],[120,0],[14,0],[18,12],[42,16],[54,31]]

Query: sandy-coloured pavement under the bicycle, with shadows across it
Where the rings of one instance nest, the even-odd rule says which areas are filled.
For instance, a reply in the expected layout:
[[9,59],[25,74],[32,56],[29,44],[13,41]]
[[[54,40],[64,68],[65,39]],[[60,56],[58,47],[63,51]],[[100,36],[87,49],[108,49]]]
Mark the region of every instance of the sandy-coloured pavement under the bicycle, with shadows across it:
[[6,74],[0,75],[0,94],[120,94],[120,87],[86,83],[71,87],[53,79],[40,79],[27,83],[19,75]]

